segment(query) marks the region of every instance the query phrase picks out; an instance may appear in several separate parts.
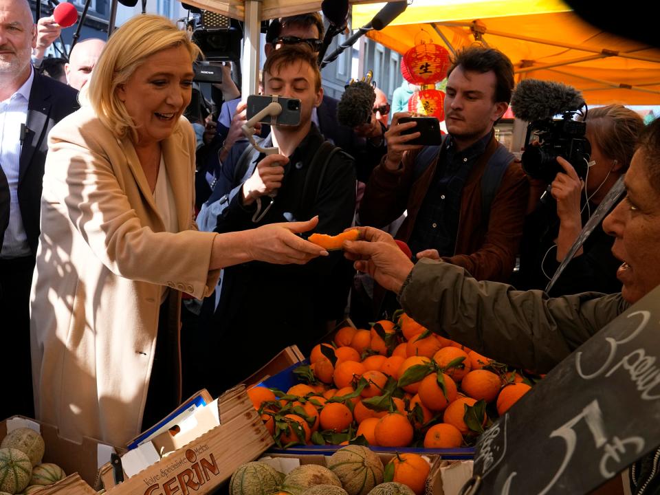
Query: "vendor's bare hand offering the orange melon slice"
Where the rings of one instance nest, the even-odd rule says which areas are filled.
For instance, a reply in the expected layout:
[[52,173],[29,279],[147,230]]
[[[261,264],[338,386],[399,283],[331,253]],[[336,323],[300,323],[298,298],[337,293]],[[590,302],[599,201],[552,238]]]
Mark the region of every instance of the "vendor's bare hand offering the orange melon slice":
[[414,266],[393,237],[373,227],[358,227],[360,239],[345,241],[344,256],[355,261],[355,270],[372,276],[388,290],[399,292]]

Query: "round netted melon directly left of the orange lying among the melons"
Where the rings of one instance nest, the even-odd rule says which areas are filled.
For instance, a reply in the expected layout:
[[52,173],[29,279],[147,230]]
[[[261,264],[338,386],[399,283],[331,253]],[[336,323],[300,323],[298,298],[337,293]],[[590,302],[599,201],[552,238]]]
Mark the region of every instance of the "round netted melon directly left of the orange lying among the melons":
[[366,495],[383,482],[383,463],[380,457],[362,445],[347,445],[328,459],[328,467],[335,473],[349,495]]

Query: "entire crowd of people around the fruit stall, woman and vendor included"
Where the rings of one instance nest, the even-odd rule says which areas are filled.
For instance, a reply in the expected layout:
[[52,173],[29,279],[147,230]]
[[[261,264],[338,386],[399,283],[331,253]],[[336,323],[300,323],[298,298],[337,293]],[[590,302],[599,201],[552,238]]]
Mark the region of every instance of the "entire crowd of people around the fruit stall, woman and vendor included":
[[[168,19],[76,43],[63,82],[36,69],[56,34],[28,1],[0,0],[0,307],[14,322],[2,417],[122,445],[182,394],[218,395],[347,315],[366,324],[397,307],[545,372],[660,283],[660,122],[591,109],[586,175],[558,157],[551,184],[533,181],[495,137],[514,91],[496,49],[456,52],[447,133],[420,146],[400,122],[410,113],[371,85],[366,120],[340,125],[316,62],[322,18],[278,19],[261,87],[300,100],[300,123],[257,126],[256,147],[229,64],[217,115],[201,115],[199,48]],[[508,285],[543,289],[624,174],[626,197],[555,298]],[[362,239],[345,256],[306,240],[352,225]]]

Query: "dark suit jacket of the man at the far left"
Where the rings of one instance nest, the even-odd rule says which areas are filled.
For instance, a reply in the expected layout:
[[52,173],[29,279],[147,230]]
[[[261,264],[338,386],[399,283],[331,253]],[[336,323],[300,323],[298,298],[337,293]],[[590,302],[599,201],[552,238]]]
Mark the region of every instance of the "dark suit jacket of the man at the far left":
[[21,149],[18,187],[23,228],[32,254],[36,254],[36,246],[39,244],[39,212],[48,133],[57,122],[76,111],[79,106],[78,91],[34,72],[28,102],[28,129]]

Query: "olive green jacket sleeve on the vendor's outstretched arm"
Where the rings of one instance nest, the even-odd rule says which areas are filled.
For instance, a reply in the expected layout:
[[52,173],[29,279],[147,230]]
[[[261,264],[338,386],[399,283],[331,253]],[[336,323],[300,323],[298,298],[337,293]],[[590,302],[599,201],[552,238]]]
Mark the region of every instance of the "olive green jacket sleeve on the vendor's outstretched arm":
[[463,268],[422,259],[399,294],[428,329],[488,358],[545,373],[628,308],[621,294],[549,298],[476,281]]

